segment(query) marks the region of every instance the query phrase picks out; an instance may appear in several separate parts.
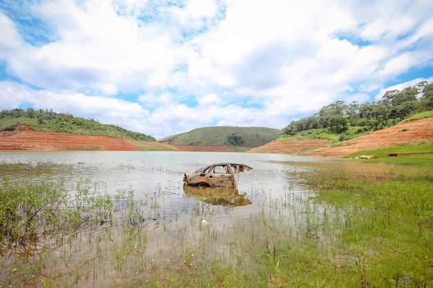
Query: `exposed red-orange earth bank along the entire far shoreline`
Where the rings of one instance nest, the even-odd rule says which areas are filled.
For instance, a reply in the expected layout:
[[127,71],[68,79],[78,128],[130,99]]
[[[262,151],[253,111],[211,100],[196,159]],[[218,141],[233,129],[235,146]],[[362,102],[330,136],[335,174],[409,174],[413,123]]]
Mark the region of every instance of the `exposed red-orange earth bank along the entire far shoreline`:
[[[400,143],[432,140],[433,117],[418,119],[392,126],[368,135],[347,140],[338,144],[324,140],[300,140],[271,142],[252,148],[250,153],[282,153],[315,155],[323,157],[342,157],[361,150],[385,148]],[[163,145],[147,142],[149,146]],[[176,151],[214,151],[232,152],[234,146],[189,146],[170,145]],[[115,137],[80,135],[70,133],[51,133],[32,131],[28,125],[17,126],[15,131],[0,132],[0,151],[139,151],[136,142]]]

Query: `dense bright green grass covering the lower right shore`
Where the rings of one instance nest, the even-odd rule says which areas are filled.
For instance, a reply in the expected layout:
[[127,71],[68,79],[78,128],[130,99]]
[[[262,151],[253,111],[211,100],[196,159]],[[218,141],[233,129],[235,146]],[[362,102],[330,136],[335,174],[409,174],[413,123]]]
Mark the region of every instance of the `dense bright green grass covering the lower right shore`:
[[338,253],[347,269],[362,276],[353,287],[430,287],[432,175],[372,173],[366,179],[333,172],[311,181],[320,191],[316,200],[344,215],[338,230],[344,249]]

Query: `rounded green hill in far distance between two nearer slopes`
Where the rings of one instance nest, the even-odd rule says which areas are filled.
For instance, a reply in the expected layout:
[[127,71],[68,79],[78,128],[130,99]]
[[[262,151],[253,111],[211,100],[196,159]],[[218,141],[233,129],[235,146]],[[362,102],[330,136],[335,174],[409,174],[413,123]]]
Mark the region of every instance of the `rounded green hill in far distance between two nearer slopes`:
[[159,142],[190,146],[257,147],[276,140],[282,130],[264,127],[217,126],[197,128],[187,133],[165,137]]

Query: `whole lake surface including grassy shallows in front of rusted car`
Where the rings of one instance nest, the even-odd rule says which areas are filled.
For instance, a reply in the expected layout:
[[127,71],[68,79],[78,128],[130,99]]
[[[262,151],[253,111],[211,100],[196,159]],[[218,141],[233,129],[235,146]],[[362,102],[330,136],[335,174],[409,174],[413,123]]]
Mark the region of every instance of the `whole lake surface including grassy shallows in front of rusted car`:
[[[113,222],[76,231],[71,242],[36,254],[31,265],[17,265],[19,255],[1,259],[0,279],[5,280],[0,280],[0,286],[4,287],[42,287],[47,281],[53,281],[53,287],[71,287],[70,283],[74,287],[126,287],[125,283],[143,287],[185,272],[203,275],[206,282],[211,267],[248,267],[266,251],[271,255],[274,249],[275,254],[275,243],[281,239],[293,241],[293,247],[297,241],[317,240],[315,251],[329,255],[340,242],[340,234],[326,231],[322,224],[344,223],[344,213],[311,201],[314,192],[306,176],[311,180],[315,173],[329,169],[335,170],[332,175],[352,169],[369,175],[386,167],[298,155],[166,151],[0,152],[0,162],[23,165],[19,173],[3,169],[0,179],[38,182],[48,178],[62,183],[71,195],[84,183],[109,195],[133,191],[136,200],[125,198],[136,206],[116,212]],[[240,173],[239,198],[234,202],[232,198],[215,202],[196,197],[200,190],[184,188],[185,172],[221,162],[252,167]],[[38,163],[48,168],[26,169]],[[150,287],[162,286],[156,281]]]

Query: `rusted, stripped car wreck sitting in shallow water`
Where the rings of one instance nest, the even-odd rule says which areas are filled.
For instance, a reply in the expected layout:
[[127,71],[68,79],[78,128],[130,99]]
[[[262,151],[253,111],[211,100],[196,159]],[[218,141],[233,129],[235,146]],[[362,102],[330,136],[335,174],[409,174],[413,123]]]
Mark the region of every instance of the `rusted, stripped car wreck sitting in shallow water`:
[[205,166],[195,172],[185,173],[183,182],[187,185],[209,187],[236,187],[235,174],[250,171],[252,168],[243,164],[222,163]]

